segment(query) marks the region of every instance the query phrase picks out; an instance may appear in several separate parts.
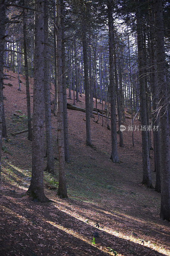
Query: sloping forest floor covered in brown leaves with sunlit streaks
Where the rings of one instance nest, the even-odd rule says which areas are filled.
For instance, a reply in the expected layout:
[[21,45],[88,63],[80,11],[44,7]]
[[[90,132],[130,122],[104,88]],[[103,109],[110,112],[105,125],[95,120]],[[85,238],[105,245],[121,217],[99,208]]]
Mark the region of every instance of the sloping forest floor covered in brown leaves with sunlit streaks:
[[[16,73],[11,74],[17,77]],[[101,116],[98,124],[91,121],[92,143],[96,146],[92,149],[85,145],[85,113],[68,109],[69,199],[60,199],[56,190],[47,188],[45,194],[52,200],[50,203],[42,204],[24,196],[31,178],[32,143],[27,140],[27,133],[11,135],[27,128],[25,79],[20,76],[20,80],[21,91],[17,90],[16,78],[6,80],[6,84],[13,86],[5,85],[4,89],[8,137],[3,139],[0,255],[170,255],[170,224],[159,219],[160,194],[141,185],[140,131],[134,132],[134,148],[131,132],[128,129],[123,132],[125,147],[120,148],[118,144],[120,163],[112,163],[111,134],[105,119],[103,126]],[[51,92],[54,93],[53,85]],[[33,96],[32,78],[30,94]],[[53,94],[51,99],[54,100]],[[79,99],[76,106],[85,107],[85,95]],[[101,109],[101,104],[98,108]],[[56,117],[53,114],[51,117],[54,156],[57,157]],[[131,119],[126,119],[126,123],[130,125]],[[137,118],[134,125],[140,125]],[[119,141],[119,135],[117,139]],[[154,185],[153,150],[150,161]],[[57,160],[55,170],[58,173]],[[58,177],[44,172],[44,180],[57,187]],[[99,237],[92,244],[94,232],[98,232]]]

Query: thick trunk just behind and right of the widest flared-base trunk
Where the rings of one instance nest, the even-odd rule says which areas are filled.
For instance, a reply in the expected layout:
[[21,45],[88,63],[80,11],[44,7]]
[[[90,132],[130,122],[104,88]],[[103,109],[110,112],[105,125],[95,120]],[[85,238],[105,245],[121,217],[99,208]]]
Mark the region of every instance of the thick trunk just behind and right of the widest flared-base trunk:
[[46,148],[47,148],[47,168],[46,168],[46,170],[49,173],[55,174],[53,145],[52,145],[52,128],[51,128],[47,0],[44,0],[44,56],[46,56],[46,58],[44,58],[44,100],[45,100],[44,110],[45,110]]

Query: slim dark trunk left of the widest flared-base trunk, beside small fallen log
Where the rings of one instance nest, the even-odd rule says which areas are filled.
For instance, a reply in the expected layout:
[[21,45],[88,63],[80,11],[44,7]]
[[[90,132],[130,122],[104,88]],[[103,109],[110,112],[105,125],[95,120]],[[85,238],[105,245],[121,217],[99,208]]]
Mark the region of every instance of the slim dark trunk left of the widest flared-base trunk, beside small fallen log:
[[[23,1],[23,5],[25,5],[25,1]],[[26,11],[25,11],[25,9],[23,9],[23,37],[24,37],[24,69],[25,69],[25,78],[26,78],[28,140],[32,140],[30,89],[29,89],[29,77],[28,77],[27,42],[26,42]]]

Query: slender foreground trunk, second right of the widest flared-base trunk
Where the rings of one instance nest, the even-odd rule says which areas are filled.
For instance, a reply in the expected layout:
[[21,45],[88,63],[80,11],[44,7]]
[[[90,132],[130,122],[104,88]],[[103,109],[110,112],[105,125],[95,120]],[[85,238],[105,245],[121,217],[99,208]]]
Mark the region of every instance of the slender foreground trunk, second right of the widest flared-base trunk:
[[62,84],[62,27],[60,0],[56,1],[56,56],[57,56],[57,131],[59,151],[59,180],[57,195],[67,198],[64,156],[63,84]]

